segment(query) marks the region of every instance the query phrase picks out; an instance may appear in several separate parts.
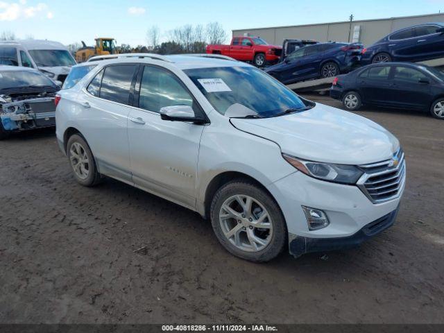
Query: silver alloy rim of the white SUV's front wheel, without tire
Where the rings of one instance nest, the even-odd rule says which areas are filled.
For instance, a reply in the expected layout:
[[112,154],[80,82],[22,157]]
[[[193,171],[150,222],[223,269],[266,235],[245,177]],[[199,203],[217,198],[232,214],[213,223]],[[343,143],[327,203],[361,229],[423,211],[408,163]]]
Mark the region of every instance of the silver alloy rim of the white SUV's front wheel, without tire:
[[263,250],[273,236],[271,215],[251,196],[236,195],[225,200],[219,223],[228,241],[246,252]]

